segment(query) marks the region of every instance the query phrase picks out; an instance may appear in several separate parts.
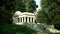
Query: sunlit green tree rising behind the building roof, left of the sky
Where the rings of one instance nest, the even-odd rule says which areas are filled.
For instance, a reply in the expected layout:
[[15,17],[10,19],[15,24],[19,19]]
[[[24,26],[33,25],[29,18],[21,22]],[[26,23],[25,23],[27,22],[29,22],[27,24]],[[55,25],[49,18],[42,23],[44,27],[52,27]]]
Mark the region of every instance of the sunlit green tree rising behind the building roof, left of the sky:
[[36,11],[36,8],[38,7],[36,5],[36,2],[34,0],[24,0],[24,3],[25,3],[25,10],[26,12],[35,12]]

